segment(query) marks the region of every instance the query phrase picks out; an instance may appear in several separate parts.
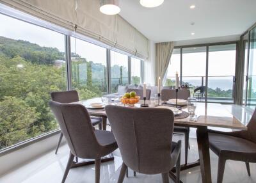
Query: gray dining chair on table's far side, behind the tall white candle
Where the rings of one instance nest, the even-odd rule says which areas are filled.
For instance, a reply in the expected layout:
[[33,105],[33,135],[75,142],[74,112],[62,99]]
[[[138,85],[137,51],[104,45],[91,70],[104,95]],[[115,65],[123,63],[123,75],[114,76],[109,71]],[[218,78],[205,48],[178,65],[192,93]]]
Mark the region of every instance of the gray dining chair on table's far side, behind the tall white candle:
[[[178,90],[178,99],[188,100],[190,97],[189,90]],[[163,89],[161,90],[161,100],[167,101],[169,99],[176,99],[175,89]],[[189,147],[189,127],[180,127],[175,126],[173,132],[184,133],[184,142],[185,142],[185,164],[188,163],[188,149]]]

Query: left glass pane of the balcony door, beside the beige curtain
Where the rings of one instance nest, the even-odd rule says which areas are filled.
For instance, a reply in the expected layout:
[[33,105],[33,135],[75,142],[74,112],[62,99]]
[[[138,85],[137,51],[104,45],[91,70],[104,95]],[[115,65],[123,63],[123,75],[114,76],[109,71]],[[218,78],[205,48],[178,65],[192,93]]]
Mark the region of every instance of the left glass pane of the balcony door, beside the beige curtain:
[[170,64],[166,74],[165,86],[175,86],[175,74],[180,75],[180,49],[173,49]]

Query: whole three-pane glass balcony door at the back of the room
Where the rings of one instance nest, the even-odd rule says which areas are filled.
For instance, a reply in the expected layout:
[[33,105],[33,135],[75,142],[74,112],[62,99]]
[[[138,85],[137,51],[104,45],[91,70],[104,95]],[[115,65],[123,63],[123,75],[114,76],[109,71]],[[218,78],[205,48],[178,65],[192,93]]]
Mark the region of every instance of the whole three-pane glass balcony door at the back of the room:
[[233,103],[235,68],[236,44],[180,47],[173,49],[165,85],[175,86],[178,72],[191,96],[198,89],[194,96],[202,102]]

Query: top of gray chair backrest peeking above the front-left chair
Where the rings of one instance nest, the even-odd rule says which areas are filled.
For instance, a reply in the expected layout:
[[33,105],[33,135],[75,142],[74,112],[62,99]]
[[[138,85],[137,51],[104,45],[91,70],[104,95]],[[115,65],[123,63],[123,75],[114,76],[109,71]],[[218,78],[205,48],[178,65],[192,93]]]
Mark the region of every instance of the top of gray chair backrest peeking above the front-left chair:
[[52,92],[52,101],[60,103],[71,103],[79,101],[78,93],[76,90],[70,90],[65,92]]

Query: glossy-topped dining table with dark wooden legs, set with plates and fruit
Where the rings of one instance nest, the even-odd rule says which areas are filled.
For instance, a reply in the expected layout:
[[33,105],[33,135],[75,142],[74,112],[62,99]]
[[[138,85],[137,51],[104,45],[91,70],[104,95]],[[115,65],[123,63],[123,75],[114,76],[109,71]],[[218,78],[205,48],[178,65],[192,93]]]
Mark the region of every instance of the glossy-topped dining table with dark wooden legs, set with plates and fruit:
[[[74,102],[76,104],[82,104],[85,107],[88,107],[93,102],[101,102],[100,98],[81,100],[79,102]],[[132,107],[141,107],[143,101],[140,100],[138,104],[135,104]],[[151,104],[152,101],[147,100],[149,107],[156,107],[155,104]],[[118,102],[108,102],[106,105],[120,105],[124,104]],[[131,106],[127,106],[131,107]],[[188,112],[186,106],[182,107],[182,111]],[[102,129],[106,130],[107,128],[107,118],[106,111],[88,109],[88,113],[91,116],[99,116],[102,118]],[[182,164],[180,170],[186,170],[193,168],[195,166],[200,166],[202,182],[211,183],[211,163],[210,163],[210,152],[209,152],[209,137],[208,137],[208,128],[218,127],[221,130],[226,131],[236,131],[236,130],[247,130],[246,124],[250,120],[250,111],[247,111],[243,106],[237,105],[224,105],[216,103],[204,103],[197,102],[195,115],[198,116],[196,120],[191,120],[188,116],[186,118],[175,118],[174,125],[182,127],[193,127],[196,128],[196,139],[198,144],[198,155],[199,159]],[[170,178],[175,179],[175,168],[170,170]],[[182,182],[180,180],[180,182]]]

